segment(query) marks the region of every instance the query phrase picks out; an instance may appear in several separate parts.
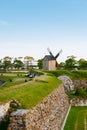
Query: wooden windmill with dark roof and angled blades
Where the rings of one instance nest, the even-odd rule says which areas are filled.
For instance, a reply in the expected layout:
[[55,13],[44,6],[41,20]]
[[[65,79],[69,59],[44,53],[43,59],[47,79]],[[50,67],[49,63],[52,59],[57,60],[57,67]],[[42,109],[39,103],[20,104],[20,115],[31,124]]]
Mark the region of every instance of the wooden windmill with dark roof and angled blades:
[[52,54],[49,48],[47,48],[50,55],[45,55],[43,59],[43,69],[44,70],[56,70],[56,67],[58,65],[57,58],[59,57],[62,50],[60,50],[56,56]]

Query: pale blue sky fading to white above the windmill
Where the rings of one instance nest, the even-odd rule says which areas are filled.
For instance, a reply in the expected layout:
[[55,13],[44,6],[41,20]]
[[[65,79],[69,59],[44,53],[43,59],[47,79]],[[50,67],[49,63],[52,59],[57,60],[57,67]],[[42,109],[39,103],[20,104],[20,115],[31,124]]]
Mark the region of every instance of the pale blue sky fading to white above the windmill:
[[43,58],[47,48],[59,62],[87,60],[86,0],[0,0],[0,58]]

